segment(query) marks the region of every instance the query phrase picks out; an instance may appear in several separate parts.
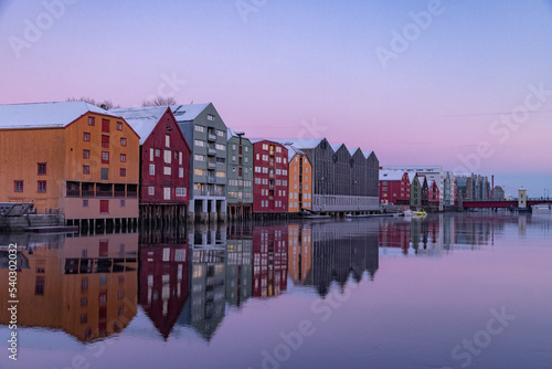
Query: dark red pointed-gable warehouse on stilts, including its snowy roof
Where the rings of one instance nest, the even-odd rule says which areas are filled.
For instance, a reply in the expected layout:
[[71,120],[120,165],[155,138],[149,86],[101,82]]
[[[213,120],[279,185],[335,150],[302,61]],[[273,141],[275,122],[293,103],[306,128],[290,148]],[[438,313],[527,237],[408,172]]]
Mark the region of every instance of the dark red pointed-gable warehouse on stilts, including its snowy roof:
[[188,213],[190,147],[167,106],[112,109],[140,136],[140,218],[181,220]]

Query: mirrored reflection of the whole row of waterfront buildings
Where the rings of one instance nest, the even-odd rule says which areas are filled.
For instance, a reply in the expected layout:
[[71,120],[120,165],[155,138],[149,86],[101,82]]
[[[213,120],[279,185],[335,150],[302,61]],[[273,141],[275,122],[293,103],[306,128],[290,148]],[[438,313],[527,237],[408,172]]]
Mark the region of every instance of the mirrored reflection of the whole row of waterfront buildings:
[[[17,242],[19,324],[61,329],[81,342],[123,331],[144,312],[168,340],[179,327],[211,341],[252,299],[291,292],[327,296],[332,284],[373,281],[381,256],[442,256],[492,246],[506,230],[550,232],[530,215],[436,214],[421,219],[199,225],[144,234],[3,235]],[[0,298],[8,301],[8,285]],[[23,308],[24,307],[24,308]],[[9,321],[0,310],[0,324]]]

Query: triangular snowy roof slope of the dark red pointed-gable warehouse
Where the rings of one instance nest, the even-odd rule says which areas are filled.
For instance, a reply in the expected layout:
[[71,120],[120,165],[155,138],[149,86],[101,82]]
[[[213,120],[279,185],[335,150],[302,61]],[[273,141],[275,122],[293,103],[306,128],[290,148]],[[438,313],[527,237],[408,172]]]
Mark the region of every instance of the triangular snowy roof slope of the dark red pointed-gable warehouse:
[[151,135],[168,106],[147,106],[147,107],[130,107],[112,109],[117,115],[120,115],[140,136],[140,145],[144,145],[146,139]]

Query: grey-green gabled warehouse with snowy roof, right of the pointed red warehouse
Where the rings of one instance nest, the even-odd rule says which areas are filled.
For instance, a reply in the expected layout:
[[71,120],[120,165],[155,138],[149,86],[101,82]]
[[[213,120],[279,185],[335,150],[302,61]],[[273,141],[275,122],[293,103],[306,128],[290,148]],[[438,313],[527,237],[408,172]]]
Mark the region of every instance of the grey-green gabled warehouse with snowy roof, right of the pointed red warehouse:
[[188,219],[226,221],[226,125],[212,103],[171,109],[192,149]]

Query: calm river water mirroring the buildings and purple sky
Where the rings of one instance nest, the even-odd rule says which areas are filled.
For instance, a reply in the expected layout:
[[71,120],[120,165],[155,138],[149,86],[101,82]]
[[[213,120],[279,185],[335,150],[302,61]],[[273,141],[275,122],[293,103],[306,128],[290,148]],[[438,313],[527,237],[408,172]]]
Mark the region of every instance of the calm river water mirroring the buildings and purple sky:
[[0,235],[0,368],[552,368],[551,225],[499,212]]

